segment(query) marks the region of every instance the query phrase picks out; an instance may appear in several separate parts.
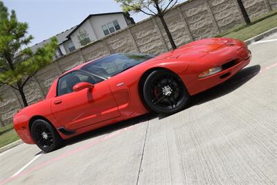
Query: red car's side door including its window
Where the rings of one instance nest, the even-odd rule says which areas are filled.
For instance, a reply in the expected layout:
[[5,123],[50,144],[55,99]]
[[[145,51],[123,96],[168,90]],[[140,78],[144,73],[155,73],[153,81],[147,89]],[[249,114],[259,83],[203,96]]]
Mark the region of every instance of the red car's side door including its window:
[[[73,91],[79,82],[89,82],[94,87]],[[67,73],[58,80],[51,108],[57,121],[69,130],[120,116],[107,81],[82,71]]]

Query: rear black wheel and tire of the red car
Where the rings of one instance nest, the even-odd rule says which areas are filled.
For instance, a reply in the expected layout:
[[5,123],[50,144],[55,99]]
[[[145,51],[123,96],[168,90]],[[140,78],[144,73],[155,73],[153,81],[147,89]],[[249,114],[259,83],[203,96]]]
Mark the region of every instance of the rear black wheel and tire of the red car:
[[30,131],[35,144],[44,152],[52,152],[62,146],[63,140],[55,127],[43,119],[35,120]]

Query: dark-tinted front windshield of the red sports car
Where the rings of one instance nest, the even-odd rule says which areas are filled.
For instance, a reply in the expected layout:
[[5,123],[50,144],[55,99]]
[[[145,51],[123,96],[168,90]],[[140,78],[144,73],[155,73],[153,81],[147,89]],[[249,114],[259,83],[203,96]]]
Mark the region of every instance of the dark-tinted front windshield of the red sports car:
[[135,54],[135,53],[117,53],[100,58],[91,62],[81,69],[89,73],[96,74],[102,78],[110,78],[121,73],[131,67],[141,64],[155,55]]

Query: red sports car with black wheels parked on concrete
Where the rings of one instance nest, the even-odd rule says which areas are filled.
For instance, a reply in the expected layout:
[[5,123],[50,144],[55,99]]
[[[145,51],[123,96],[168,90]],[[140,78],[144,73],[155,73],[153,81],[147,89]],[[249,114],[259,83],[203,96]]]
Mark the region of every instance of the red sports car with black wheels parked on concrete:
[[161,55],[116,53],[57,78],[45,100],[14,116],[17,134],[45,152],[64,139],[150,111],[173,114],[190,96],[214,87],[249,64],[244,42],[211,38]]

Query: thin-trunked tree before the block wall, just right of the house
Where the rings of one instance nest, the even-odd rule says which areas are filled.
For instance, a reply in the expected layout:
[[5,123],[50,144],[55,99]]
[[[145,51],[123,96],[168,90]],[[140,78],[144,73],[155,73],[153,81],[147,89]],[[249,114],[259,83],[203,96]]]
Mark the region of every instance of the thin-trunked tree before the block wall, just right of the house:
[[172,38],[168,25],[164,19],[164,15],[170,11],[178,2],[178,0],[115,0],[121,4],[124,12],[143,12],[146,15],[154,15],[159,17],[163,28],[166,30],[166,35],[172,46],[172,49],[177,49]]

